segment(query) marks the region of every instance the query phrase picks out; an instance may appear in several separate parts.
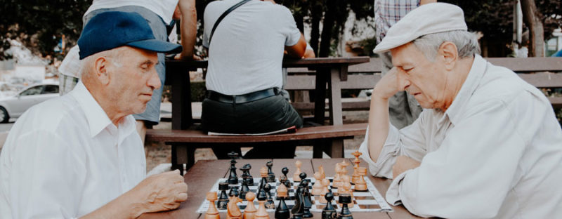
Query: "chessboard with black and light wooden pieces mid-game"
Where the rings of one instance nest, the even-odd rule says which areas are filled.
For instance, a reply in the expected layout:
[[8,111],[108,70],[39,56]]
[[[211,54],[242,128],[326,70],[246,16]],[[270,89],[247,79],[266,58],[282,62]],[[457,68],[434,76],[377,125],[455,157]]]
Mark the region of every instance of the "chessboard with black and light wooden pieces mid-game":
[[333,177],[325,175],[323,166],[309,176],[301,171],[301,161],[297,160],[296,170],[289,177],[288,168],[276,175],[271,169],[273,162],[268,161],[260,168],[261,178],[250,175],[250,164],[239,168],[239,178],[237,154],[231,154],[228,178],[216,180],[197,213],[204,213],[205,218],[219,218],[220,212],[226,212],[229,218],[268,218],[268,212],[275,212],[275,218],[311,218],[315,213],[322,218],[352,218],[353,212],[393,211],[365,179],[367,168],[359,166],[360,152],[353,154],[352,175],[348,175],[346,167],[351,164],[346,160],[334,166]]

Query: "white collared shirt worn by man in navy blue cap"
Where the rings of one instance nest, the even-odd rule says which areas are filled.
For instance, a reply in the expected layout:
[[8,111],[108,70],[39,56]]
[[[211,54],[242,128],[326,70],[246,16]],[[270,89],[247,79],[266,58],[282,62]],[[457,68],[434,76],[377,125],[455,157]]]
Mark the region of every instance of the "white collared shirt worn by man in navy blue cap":
[[0,156],[0,218],[74,218],[131,190],[146,159],[131,115],[112,124],[84,84],[27,110]]

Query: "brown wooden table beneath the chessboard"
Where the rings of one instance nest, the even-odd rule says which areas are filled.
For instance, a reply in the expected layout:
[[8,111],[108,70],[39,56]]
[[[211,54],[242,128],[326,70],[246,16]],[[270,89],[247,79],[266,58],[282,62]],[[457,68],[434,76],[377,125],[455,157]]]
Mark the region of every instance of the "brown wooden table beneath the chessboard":
[[[314,171],[318,171],[318,166],[324,166],[324,170],[327,176],[332,176],[335,174],[334,166],[336,163],[341,162],[343,159],[347,159],[350,162],[353,159],[339,158],[339,159],[299,159],[302,161],[301,171],[308,173],[308,177],[312,177]],[[265,166],[267,161],[273,161],[273,173],[275,177],[278,178],[281,173],[281,169],[285,166],[289,168],[289,174],[291,175],[296,170],[295,161],[296,159],[238,159],[237,168],[240,168],[244,164],[251,164],[250,174],[254,177],[259,177],[259,170],[261,166]],[[367,167],[365,161],[360,163],[360,166]],[[197,208],[204,201],[207,192],[211,190],[212,185],[218,180],[218,178],[228,178],[228,171],[230,167],[230,160],[202,160],[197,161],[197,163],[190,168],[190,170],[183,176],[185,178],[185,183],[188,184],[188,200],[184,201],[181,206],[173,211],[165,211],[160,213],[146,213],[141,215],[141,218],[204,218],[204,213],[196,213]],[[353,173],[353,168],[348,166],[349,173]],[[240,176],[240,171],[238,172]],[[369,175],[369,180],[373,183],[377,190],[383,195],[386,194],[388,186],[391,184],[391,180],[383,178],[374,178]],[[392,206],[393,212],[355,212],[353,213],[353,218],[417,218],[408,212],[403,206]],[[313,213],[313,218],[321,218],[322,213]],[[226,213],[221,213],[221,218],[226,218]],[[274,213],[269,213],[270,218],[274,218]]]

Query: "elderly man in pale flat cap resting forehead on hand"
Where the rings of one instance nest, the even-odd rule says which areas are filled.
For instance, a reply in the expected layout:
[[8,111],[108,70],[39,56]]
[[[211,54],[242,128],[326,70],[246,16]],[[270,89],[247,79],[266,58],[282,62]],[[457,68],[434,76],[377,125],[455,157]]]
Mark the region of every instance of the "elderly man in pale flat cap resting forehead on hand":
[[[374,87],[360,151],[370,173],[393,178],[386,199],[441,218],[559,218],[562,130],[549,100],[484,60],[462,9],[427,4],[375,48],[393,69]],[[414,95],[424,111],[398,130],[388,98]]]

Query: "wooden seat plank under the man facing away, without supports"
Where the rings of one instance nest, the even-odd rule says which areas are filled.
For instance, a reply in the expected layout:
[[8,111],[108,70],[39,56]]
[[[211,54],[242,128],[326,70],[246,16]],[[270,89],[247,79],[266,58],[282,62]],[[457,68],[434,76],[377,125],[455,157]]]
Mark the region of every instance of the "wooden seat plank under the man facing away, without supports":
[[227,142],[275,142],[287,140],[311,140],[323,138],[343,138],[354,135],[364,135],[367,124],[344,124],[340,126],[315,126],[299,128],[296,133],[276,135],[207,135],[198,130],[162,130],[148,129],[146,140],[164,142],[190,143],[227,143]]

